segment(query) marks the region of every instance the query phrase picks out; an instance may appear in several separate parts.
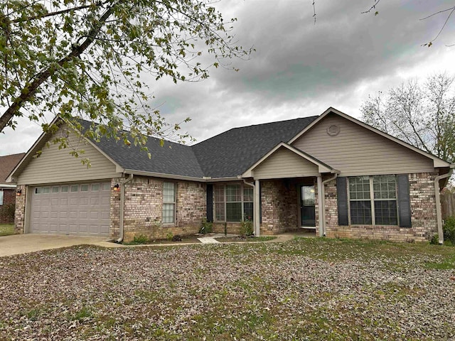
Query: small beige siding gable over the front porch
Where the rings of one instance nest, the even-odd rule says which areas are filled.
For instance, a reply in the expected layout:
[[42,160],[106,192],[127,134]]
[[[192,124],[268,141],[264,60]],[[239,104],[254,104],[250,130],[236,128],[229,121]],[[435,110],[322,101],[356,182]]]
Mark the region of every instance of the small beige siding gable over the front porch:
[[253,171],[255,179],[296,178],[319,175],[318,166],[287,148],[279,148]]

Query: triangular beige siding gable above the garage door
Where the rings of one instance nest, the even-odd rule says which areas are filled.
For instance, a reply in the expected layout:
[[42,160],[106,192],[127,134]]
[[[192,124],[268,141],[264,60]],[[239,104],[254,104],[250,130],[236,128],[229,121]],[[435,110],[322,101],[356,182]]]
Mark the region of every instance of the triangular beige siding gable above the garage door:
[[[57,132],[62,134],[63,128]],[[41,156],[30,158],[30,162],[23,168],[17,178],[18,185],[62,183],[82,180],[98,180],[117,178],[116,166],[102,155],[94,146],[75,134],[68,136],[68,148],[58,148],[59,144],[50,142],[50,146],[41,149]],[[85,153],[79,158],[70,155],[70,152],[83,149]],[[91,167],[81,163],[82,158],[90,159]]]

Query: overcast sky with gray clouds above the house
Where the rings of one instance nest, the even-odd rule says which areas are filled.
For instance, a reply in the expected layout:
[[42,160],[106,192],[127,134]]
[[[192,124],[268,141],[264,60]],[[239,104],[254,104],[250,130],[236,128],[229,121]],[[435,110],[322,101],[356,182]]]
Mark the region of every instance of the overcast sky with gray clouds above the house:
[[[225,19],[236,17],[240,45],[254,46],[239,72],[219,68],[199,83],[149,83],[154,106],[197,141],[236,126],[319,115],[335,107],[353,117],[368,95],[387,92],[411,78],[455,75],[455,15],[434,42],[454,1],[222,0]],[[37,124],[20,121],[0,134],[0,156],[25,152],[40,136]]]

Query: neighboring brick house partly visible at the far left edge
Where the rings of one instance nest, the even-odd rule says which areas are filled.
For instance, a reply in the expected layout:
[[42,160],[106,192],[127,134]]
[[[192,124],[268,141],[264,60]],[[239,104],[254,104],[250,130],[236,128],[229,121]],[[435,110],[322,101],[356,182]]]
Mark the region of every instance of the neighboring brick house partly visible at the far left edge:
[[6,178],[24,155],[25,153],[18,153],[0,156],[0,224],[11,224],[14,220],[16,185],[6,183]]

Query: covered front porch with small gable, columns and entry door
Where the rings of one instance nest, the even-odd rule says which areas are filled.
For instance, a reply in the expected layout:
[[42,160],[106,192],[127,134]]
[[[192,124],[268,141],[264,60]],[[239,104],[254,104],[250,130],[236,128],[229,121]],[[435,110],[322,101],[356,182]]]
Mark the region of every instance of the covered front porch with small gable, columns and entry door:
[[254,184],[255,235],[302,229],[325,235],[324,185],[338,173],[289,144],[278,144],[242,174]]

